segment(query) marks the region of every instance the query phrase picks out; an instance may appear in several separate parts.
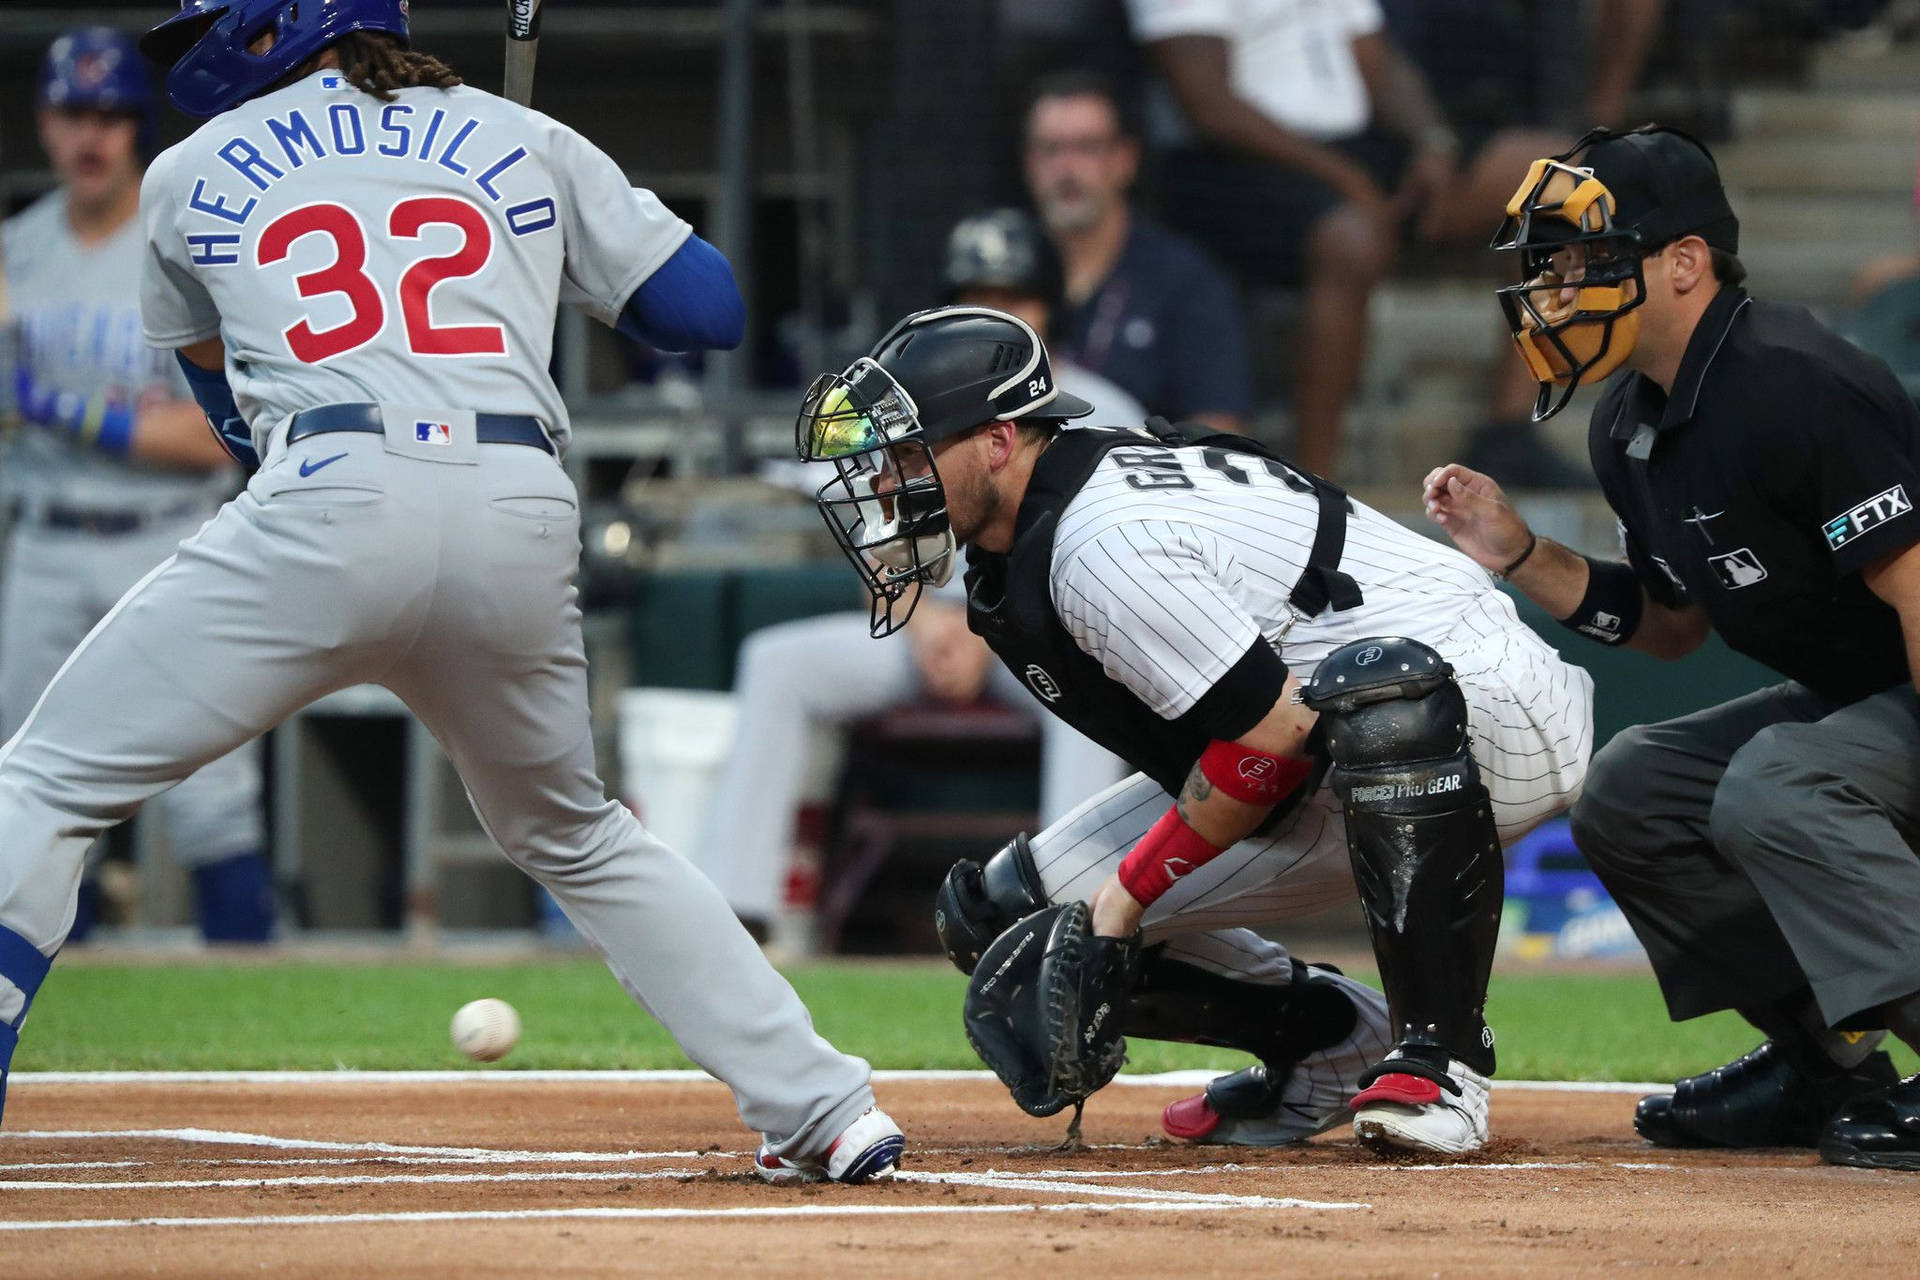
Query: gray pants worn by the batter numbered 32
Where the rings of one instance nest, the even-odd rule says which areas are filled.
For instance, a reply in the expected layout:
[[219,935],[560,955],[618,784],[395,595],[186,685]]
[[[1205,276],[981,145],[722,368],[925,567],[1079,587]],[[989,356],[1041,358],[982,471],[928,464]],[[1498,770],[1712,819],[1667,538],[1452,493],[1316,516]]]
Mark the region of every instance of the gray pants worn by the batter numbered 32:
[[[553,457],[474,445],[472,415],[453,420],[447,461],[411,445],[405,420],[390,441],[276,436],[246,493],[94,628],[0,748],[0,931],[54,954],[94,837],[321,695],[380,683],[440,739],[507,858],[733,1086],[747,1125],[780,1155],[818,1157],[874,1105],[868,1065],[814,1032],[718,890],[607,800],[572,484]],[[0,981],[0,1021],[23,1004]]]

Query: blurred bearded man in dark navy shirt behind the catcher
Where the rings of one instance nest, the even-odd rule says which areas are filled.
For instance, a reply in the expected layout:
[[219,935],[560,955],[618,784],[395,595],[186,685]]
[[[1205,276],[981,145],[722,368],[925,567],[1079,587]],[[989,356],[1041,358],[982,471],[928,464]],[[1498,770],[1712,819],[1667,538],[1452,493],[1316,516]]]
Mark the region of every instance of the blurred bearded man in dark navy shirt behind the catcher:
[[1066,273],[1054,357],[1102,374],[1175,422],[1246,428],[1252,388],[1233,284],[1192,242],[1131,207],[1140,146],[1096,75],[1035,86],[1027,188]]

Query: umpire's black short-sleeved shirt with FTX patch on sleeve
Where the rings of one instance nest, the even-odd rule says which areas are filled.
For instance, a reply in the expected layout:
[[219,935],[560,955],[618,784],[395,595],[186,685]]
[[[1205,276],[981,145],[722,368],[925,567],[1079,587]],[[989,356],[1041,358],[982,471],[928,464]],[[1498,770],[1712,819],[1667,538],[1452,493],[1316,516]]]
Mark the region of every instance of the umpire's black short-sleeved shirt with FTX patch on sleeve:
[[1910,679],[1860,570],[1920,541],[1920,413],[1805,309],[1722,288],[1672,395],[1615,376],[1588,430],[1640,581],[1740,652],[1853,702]]

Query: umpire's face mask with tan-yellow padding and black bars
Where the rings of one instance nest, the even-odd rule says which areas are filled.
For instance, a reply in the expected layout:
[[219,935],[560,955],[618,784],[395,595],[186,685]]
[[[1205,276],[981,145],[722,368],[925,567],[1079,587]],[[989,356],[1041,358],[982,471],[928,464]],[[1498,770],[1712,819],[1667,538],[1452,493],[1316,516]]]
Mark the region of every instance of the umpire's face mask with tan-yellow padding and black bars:
[[1534,420],[1551,418],[1574,388],[1599,382],[1640,336],[1645,301],[1640,234],[1615,225],[1613,192],[1588,169],[1536,159],[1507,201],[1496,249],[1517,249],[1524,276],[1498,292],[1521,359],[1540,382]]

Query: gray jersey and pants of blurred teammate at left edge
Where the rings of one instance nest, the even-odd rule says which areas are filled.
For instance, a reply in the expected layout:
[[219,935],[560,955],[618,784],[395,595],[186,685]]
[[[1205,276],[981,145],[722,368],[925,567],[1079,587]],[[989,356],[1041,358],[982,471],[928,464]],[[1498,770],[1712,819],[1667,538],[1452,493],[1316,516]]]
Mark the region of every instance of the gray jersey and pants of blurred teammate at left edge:
[[[13,301],[12,351],[46,393],[136,405],[186,399],[173,357],[140,336],[144,238],[136,221],[81,244],[54,192],[0,232]],[[173,555],[221,505],[232,472],[184,472],[115,459],[27,426],[0,464],[0,501],[17,518],[0,574],[0,737],[33,710],[86,631]],[[261,848],[261,762],[244,745],[159,800],[167,844],[184,865]]]

